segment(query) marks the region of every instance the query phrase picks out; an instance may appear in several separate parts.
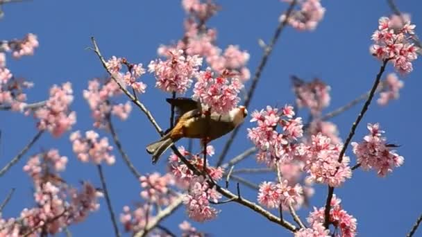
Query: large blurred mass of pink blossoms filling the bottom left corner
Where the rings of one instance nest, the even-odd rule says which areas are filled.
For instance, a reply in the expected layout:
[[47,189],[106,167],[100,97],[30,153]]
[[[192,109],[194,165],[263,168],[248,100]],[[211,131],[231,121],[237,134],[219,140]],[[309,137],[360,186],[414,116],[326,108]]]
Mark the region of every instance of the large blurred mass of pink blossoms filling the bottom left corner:
[[102,193],[84,182],[81,190],[71,188],[60,178],[67,158],[58,150],[34,155],[24,166],[34,182],[35,207],[24,209],[19,218],[0,218],[0,236],[55,235],[65,227],[81,222],[99,209],[97,199]]

